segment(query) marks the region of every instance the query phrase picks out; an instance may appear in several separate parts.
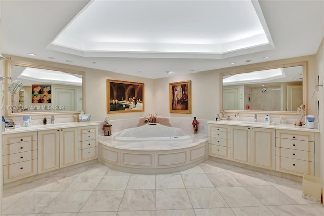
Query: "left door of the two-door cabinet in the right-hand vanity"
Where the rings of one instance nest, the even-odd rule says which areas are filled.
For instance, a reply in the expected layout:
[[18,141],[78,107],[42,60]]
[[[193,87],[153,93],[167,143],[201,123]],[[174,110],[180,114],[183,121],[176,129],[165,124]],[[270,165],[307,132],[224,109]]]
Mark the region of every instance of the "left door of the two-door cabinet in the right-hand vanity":
[[231,126],[230,159],[251,164],[251,127]]

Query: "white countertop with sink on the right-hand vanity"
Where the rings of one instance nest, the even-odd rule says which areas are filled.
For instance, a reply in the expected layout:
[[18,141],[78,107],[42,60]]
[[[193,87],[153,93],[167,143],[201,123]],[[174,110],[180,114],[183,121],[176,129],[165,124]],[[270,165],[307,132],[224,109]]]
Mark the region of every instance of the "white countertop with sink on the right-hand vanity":
[[297,130],[297,131],[308,131],[320,133],[319,129],[305,128],[304,126],[295,126],[293,124],[281,124],[281,125],[266,125],[264,122],[249,122],[249,121],[208,121],[207,124],[223,124],[223,125],[237,125],[237,126],[250,126],[250,127],[262,127],[262,128],[273,128],[282,130]]

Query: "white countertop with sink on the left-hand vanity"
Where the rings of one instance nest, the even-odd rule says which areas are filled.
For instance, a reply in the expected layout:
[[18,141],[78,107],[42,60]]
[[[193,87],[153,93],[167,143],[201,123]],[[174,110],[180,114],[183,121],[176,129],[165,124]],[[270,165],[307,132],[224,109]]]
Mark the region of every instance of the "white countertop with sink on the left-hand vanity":
[[11,134],[11,133],[21,133],[21,132],[31,132],[31,131],[41,131],[41,130],[51,130],[51,129],[59,129],[59,128],[70,128],[70,127],[83,127],[83,126],[91,126],[91,125],[99,125],[97,122],[61,122],[56,124],[39,124],[32,125],[28,127],[15,127],[15,129],[7,129],[2,132],[2,134]]

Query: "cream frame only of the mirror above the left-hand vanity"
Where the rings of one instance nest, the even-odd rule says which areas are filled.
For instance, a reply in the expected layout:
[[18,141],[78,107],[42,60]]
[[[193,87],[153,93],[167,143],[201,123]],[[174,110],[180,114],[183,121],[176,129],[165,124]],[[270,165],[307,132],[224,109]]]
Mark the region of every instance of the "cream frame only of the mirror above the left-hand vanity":
[[[82,111],[85,112],[86,108],[86,73],[84,71],[77,71],[77,70],[70,70],[70,69],[63,69],[57,67],[49,67],[49,66],[42,66],[42,65],[34,65],[34,64],[25,64],[15,61],[7,61],[6,64],[6,76],[12,76],[12,66],[21,66],[21,67],[32,67],[32,68],[39,68],[39,69],[46,69],[46,70],[55,70],[65,73],[72,73],[72,74],[79,74],[82,75]],[[9,85],[9,81],[6,80],[6,84]],[[5,91],[6,95],[6,106],[11,106],[11,95],[9,91]],[[36,116],[36,115],[68,115],[68,114],[79,114],[81,111],[56,111],[56,112],[20,112],[20,113],[11,113],[10,109],[6,109],[6,117],[18,117],[18,116]]]

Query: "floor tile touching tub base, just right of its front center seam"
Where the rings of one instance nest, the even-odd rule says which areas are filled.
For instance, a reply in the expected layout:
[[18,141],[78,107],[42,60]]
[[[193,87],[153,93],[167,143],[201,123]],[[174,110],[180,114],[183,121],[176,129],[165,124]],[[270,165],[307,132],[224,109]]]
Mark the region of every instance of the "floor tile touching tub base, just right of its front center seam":
[[185,188],[181,175],[156,175],[156,189]]

